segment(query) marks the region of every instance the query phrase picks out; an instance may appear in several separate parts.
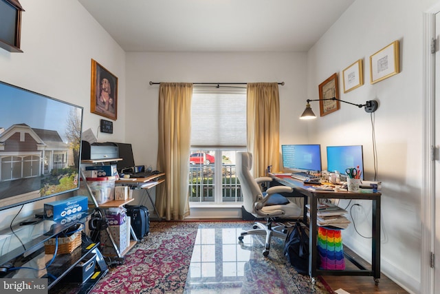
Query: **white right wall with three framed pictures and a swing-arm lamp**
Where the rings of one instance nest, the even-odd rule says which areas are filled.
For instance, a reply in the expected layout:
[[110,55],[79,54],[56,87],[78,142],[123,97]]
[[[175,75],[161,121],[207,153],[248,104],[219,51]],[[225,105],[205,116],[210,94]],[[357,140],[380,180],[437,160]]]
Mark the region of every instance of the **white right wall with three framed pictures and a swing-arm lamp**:
[[[415,293],[421,283],[422,16],[432,3],[355,1],[307,56],[309,98],[318,97],[318,85],[338,72],[342,100],[379,101],[374,117],[377,180],[382,181],[382,271]],[[371,85],[369,57],[395,40],[400,42],[401,72]],[[358,59],[364,61],[364,85],[344,94],[342,70]],[[312,107],[319,109],[318,104]],[[366,180],[374,176],[371,132],[370,115],[344,103],[309,125],[311,140],[324,146],[364,145]],[[353,219],[358,231],[369,237],[371,218],[366,215],[371,214],[371,204],[359,203],[362,208],[353,209]],[[364,257],[370,255],[371,240],[353,226],[343,238]]]

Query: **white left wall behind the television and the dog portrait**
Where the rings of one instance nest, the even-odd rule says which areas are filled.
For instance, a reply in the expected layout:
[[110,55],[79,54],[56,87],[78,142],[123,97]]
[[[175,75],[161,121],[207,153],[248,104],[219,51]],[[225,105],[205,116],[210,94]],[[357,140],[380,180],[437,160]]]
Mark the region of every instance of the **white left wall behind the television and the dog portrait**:
[[[124,51],[77,0],[21,0],[20,3],[25,10],[21,24],[23,53],[0,49],[0,80],[84,107],[83,129],[91,128],[96,135],[103,117],[90,112],[91,59],[95,59],[119,78],[114,134],[99,134],[98,140],[123,141]],[[5,226],[19,208],[1,212]],[[42,203],[27,205],[19,218],[40,208]]]

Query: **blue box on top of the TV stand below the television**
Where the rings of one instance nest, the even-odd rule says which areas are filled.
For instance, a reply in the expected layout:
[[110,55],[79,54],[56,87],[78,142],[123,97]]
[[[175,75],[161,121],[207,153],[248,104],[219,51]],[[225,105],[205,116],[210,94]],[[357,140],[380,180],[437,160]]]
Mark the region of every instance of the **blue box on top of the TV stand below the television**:
[[64,200],[57,200],[44,204],[44,218],[46,220],[60,220],[75,213],[87,211],[87,196],[74,196]]

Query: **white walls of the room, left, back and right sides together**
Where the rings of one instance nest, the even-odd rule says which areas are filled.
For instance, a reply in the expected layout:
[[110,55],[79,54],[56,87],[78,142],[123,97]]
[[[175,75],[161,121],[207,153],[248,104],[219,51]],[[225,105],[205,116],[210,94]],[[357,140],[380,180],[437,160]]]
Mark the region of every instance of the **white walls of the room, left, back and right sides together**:
[[[375,113],[378,180],[382,196],[382,271],[419,293],[422,187],[422,12],[434,0],[358,0],[305,53],[129,53],[111,39],[76,0],[21,0],[21,48],[0,50],[0,80],[85,107],[83,129],[96,134],[100,116],[90,113],[90,63],[95,59],[119,78],[114,134],[100,142],[133,143],[138,164],[156,166],[158,85],[167,82],[284,81],[280,86],[281,144],[364,145],[365,175],[373,178],[369,114],[342,104],[311,122],[298,120],[307,98],[334,72],[364,59],[365,84],[340,98],[353,103],[377,99]],[[401,72],[369,83],[369,56],[400,41]],[[312,102],[313,103],[313,102]],[[318,113],[318,103],[312,107]],[[0,118],[1,125],[1,118]],[[322,158],[325,158],[323,151]],[[324,161],[325,162],[325,161]],[[368,202],[354,210],[358,231],[368,236]],[[37,205],[38,206],[38,205]],[[33,207],[33,206],[32,206]],[[26,207],[22,213],[29,213]],[[6,222],[17,210],[1,213]],[[26,212],[28,211],[28,212]],[[8,214],[6,218],[3,218]],[[368,259],[370,240],[353,226],[344,242]]]

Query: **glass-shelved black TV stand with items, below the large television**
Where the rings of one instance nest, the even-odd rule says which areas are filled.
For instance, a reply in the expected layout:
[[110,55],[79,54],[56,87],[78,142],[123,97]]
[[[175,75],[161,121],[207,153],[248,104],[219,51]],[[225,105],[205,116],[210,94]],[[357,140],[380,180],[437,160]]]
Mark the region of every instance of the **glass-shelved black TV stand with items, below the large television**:
[[[0,266],[7,269],[1,273],[1,278],[41,277],[47,278],[47,287],[51,289],[64,277],[69,275],[75,266],[80,263],[87,254],[93,253],[95,261],[93,270],[96,274],[93,280],[87,280],[89,287],[93,287],[101,277],[108,272],[107,264],[103,262],[102,255],[98,250],[98,243],[91,242],[85,236],[84,224],[91,215],[91,211],[83,214],[78,220],[61,223],[53,220],[41,220],[34,224],[14,225],[10,229],[0,232],[4,236],[0,240],[3,254],[0,255]],[[45,243],[53,240],[61,232],[81,224],[80,243],[70,253],[45,253]],[[80,226],[78,226],[80,227]],[[77,228],[75,228],[77,229]],[[78,233],[78,232],[77,232]],[[60,238],[58,238],[59,240]],[[81,281],[83,282],[83,281]],[[79,283],[78,293],[84,290],[86,283]],[[63,284],[63,282],[61,283]],[[83,285],[81,285],[83,284]]]

